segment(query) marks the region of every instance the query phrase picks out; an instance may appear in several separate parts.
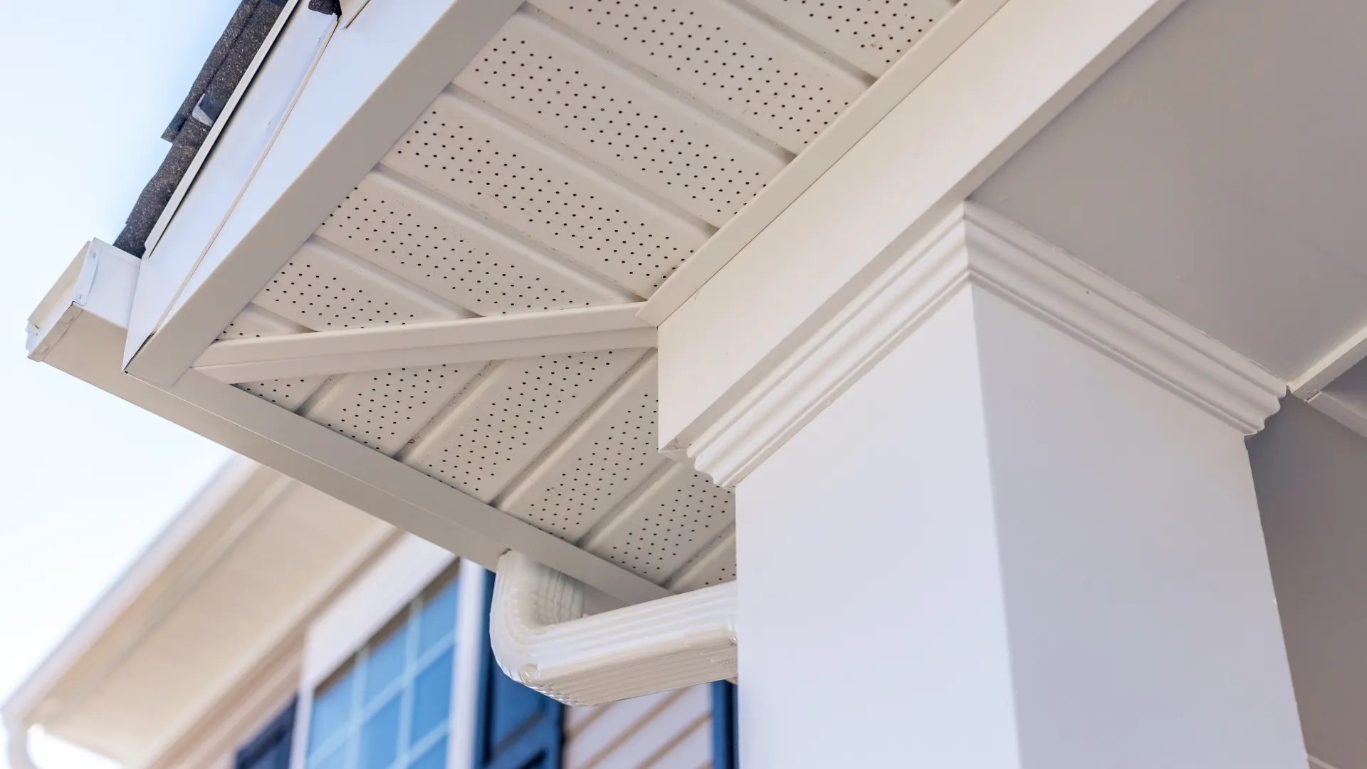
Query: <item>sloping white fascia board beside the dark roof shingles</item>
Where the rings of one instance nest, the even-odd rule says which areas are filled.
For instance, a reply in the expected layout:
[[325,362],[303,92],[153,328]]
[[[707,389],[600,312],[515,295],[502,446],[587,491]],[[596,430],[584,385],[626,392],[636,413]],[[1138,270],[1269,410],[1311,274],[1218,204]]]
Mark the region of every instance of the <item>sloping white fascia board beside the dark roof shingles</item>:
[[185,374],[519,4],[380,3],[338,30],[206,249],[153,257],[174,264],[139,286],[126,369]]

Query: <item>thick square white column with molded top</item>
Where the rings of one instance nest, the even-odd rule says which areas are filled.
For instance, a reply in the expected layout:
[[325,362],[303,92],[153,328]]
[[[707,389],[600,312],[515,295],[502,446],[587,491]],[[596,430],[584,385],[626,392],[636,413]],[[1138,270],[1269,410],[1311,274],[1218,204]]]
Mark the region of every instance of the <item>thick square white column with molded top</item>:
[[1280,382],[976,209],[753,379],[688,446],[738,482],[745,769],[1305,766]]

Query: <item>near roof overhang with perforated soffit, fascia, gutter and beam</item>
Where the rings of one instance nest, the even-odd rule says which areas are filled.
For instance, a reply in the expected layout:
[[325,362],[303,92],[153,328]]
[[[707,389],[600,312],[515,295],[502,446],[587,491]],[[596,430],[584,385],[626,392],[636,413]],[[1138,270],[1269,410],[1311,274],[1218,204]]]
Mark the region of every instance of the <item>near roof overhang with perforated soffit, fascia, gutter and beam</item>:
[[[961,203],[1177,4],[921,0],[872,48],[779,1],[689,5],[785,73],[771,111],[604,31],[607,5],[373,0],[339,26],[301,4],[156,246],[87,250],[33,357],[491,569],[517,550],[623,603],[734,579],[731,493],[678,438],[766,354],[737,345],[802,308],[755,312],[764,281],[723,267],[778,260],[772,282],[770,246],[796,242],[801,285],[848,290],[889,227]],[[667,37],[670,8],[633,29]],[[582,82],[526,79],[552,70]],[[934,141],[880,166],[908,123]],[[804,235],[822,215],[793,212],[904,167],[915,205],[842,215],[858,248],[827,270],[830,238]],[[109,309],[71,300],[82,281]],[[663,382],[656,326],[685,304],[704,317],[675,360],[701,363]],[[664,430],[662,390],[682,393]]]

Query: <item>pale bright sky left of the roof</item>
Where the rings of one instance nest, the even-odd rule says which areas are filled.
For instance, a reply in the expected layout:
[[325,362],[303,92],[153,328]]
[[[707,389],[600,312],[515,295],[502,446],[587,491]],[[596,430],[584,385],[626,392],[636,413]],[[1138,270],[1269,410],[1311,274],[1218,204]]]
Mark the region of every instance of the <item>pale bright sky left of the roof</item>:
[[[26,360],[23,328],[81,245],[118,234],[235,7],[0,0],[0,699],[228,458]],[[100,765],[37,751],[44,769]]]

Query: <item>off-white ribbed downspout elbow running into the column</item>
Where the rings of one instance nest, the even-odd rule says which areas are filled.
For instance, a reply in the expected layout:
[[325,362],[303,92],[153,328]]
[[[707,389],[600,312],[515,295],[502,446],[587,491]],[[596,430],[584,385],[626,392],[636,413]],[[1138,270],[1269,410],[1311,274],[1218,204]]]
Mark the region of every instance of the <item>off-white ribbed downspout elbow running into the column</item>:
[[499,668],[566,705],[599,705],[735,676],[735,583],[584,617],[584,586],[521,553],[493,582]]

